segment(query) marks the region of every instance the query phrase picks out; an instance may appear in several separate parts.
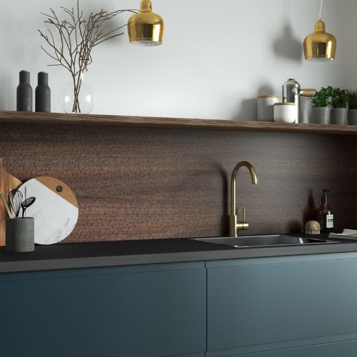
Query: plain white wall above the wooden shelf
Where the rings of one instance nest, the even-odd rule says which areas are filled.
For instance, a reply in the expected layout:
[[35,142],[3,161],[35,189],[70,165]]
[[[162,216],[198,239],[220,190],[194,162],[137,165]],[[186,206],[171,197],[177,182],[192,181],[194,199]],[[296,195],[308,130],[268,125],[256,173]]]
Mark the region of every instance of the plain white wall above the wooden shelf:
[[[69,80],[40,45],[37,29],[52,7],[76,0],[0,0],[0,110],[15,110],[18,71],[49,72],[52,109],[61,112],[58,93]],[[337,38],[333,62],[303,59],[302,41],[313,32],[319,0],[152,0],[165,19],[164,44],[130,45],[127,35],[93,50],[86,80],[96,94],[92,113],[249,120],[258,94],[281,95],[287,78],[305,88],[357,88],[357,2],[324,0],[326,31]],[[86,11],[139,8],[139,0],[81,0]],[[62,14],[61,14],[62,16]],[[123,24],[129,14],[114,21]]]

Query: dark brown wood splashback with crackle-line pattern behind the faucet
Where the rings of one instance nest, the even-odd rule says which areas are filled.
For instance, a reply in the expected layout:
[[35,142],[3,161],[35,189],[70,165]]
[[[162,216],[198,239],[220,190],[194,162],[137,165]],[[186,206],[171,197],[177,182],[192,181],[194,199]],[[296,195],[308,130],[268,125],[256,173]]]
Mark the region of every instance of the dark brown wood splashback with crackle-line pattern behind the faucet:
[[[330,189],[335,226],[357,228],[357,140],[350,135],[144,127],[0,124],[3,167],[19,180],[49,175],[78,198],[64,242],[228,233],[236,163],[247,234],[299,232]],[[50,209],[50,208],[48,208]]]

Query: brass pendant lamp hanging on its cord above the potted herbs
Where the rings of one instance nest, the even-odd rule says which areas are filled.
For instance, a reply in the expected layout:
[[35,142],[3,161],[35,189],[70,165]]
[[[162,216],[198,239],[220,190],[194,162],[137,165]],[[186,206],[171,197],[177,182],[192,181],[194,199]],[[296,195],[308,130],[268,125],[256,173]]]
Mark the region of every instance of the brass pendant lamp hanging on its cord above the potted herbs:
[[315,23],[315,32],[308,35],[303,41],[305,60],[312,62],[333,61],[336,55],[336,38],[325,32],[325,23],[321,21],[322,0],[320,17]]

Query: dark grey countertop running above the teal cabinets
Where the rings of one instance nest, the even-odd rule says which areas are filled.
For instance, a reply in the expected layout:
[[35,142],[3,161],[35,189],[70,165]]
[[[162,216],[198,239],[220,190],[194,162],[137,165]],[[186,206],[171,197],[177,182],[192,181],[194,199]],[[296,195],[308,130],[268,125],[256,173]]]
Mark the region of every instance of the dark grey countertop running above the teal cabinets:
[[[326,238],[323,235],[314,237]],[[0,247],[0,273],[351,251],[357,251],[357,241],[249,248],[233,248],[187,238],[63,243],[36,245],[35,251],[28,253],[10,253],[5,251],[5,247]]]

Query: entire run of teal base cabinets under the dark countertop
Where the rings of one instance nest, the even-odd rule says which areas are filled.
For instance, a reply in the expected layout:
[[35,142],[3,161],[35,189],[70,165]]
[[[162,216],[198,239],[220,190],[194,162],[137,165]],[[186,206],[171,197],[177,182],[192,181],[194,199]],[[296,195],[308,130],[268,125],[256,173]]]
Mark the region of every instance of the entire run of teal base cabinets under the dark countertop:
[[350,252],[3,273],[1,356],[352,357],[356,272]]

